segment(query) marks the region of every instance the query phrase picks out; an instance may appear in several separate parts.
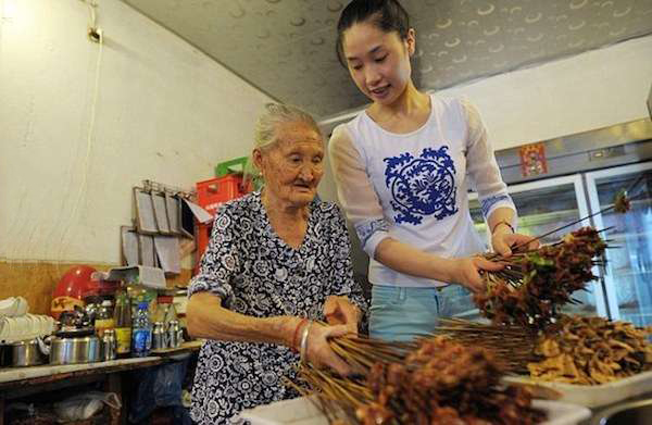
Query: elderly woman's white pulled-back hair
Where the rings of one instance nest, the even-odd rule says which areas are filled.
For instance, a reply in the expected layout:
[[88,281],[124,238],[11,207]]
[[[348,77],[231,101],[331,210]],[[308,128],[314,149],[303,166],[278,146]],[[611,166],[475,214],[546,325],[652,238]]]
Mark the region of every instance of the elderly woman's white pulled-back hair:
[[[319,126],[308,112],[283,103],[266,103],[263,113],[258,118],[254,128],[254,149],[262,151],[272,148],[276,143],[276,128],[285,123],[305,123],[322,135]],[[253,158],[250,154],[247,161],[246,178],[258,180],[261,177],[260,171],[253,163]]]

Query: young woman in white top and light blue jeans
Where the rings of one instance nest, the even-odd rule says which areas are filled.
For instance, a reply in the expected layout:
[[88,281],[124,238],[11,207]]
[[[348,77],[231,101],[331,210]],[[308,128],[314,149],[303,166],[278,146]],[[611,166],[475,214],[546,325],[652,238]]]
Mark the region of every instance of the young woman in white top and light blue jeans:
[[[353,0],[338,22],[338,55],[372,104],[338,126],[329,152],[338,196],[371,258],[373,337],[410,340],[484,290],[484,251],[468,212],[479,195],[493,250],[514,233],[507,195],[478,112],[465,100],[419,91],[410,58],[415,33],[396,0]],[[456,285],[450,285],[456,284]]]

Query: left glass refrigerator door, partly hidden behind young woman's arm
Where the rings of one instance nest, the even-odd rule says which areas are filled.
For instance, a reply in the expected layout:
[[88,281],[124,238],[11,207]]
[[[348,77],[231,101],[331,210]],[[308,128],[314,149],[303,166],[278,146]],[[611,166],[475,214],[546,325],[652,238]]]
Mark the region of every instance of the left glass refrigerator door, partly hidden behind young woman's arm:
[[[573,223],[588,213],[584,185],[580,175],[548,178],[538,182],[524,183],[509,187],[512,199],[518,211],[517,232],[525,235],[544,235],[565,224]],[[477,196],[473,193],[471,210],[476,228],[487,238],[487,226],[484,222]],[[469,196],[469,198],[472,198]],[[557,230],[543,237],[541,243],[555,242],[565,234],[581,226],[589,226],[589,220]],[[487,240],[487,239],[486,239]],[[593,274],[599,276],[599,270]],[[588,292],[576,292],[574,298],[581,304],[567,305],[564,311],[568,314],[603,315],[606,316],[604,297],[600,282],[589,284]]]

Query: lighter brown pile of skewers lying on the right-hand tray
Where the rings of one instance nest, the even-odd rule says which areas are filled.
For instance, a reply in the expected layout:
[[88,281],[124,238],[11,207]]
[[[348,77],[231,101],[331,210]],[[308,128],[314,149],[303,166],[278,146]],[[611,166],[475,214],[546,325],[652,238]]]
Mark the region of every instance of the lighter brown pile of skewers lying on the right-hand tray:
[[561,315],[543,332],[514,325],[447,320],[437,328],[454,341],[493,352],[506,372],[535,380],[600,385],[652,370],[652,328],[603,317]]

